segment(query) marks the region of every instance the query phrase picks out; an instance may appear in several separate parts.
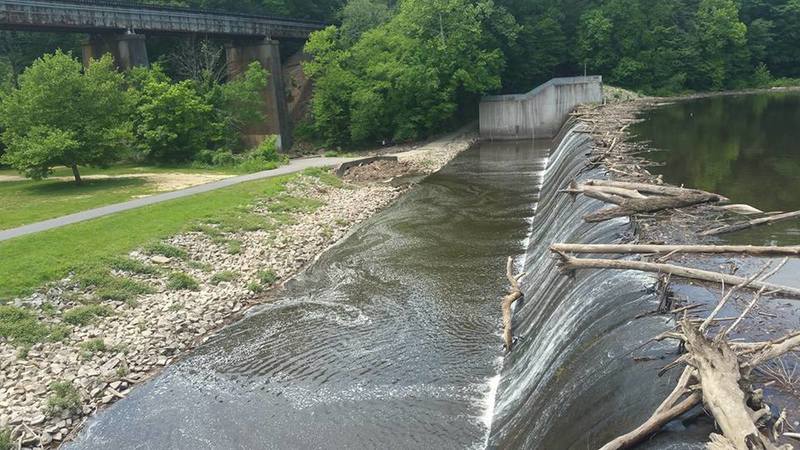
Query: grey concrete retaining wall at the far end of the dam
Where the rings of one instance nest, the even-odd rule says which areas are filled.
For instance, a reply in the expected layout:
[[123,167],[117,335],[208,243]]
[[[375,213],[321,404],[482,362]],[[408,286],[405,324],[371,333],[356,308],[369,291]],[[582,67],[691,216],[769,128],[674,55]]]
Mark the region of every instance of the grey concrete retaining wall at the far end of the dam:
[[600,76],[553,78],[527,94],[484,97],[480,104],[481,138],[552,138],[576,106],[602,101]]

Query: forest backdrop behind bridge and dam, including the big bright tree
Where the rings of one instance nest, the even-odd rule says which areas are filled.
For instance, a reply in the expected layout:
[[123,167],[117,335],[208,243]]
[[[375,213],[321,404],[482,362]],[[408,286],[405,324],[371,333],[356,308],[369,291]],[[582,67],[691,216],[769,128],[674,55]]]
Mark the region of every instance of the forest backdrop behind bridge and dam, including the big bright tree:
[[[315,88],[309,117],[297,124],[302,139],[330,147],[419,139],[474,117],[482,95],[525,92],[556,76],[599,74],[655,95],[800,77],[800,0],[161,3],[330,24],[305,44]],[[80,39],[2,32],[3,90],[42,54],[77,54]],[[149,45],[172,82],[191,78],[174,63],[178,44]],[[284,48],[284,56],[297,49]]]

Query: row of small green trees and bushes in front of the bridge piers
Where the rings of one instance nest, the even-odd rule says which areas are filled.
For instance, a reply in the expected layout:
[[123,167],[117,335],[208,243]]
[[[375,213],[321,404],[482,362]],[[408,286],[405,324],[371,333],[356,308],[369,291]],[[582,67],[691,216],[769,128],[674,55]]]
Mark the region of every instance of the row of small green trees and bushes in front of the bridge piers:
[[273,167],[274,140],[244,155],[239,139],[243,128],[264,120],[266,83],[259,63],[225,84],[208,77],[174,82],[158,65],[123,74],[106,55],[84,69],[56,51],[0,96],[0,161],[34,179],[71,167],[78,183],[79,166],[123,160]]

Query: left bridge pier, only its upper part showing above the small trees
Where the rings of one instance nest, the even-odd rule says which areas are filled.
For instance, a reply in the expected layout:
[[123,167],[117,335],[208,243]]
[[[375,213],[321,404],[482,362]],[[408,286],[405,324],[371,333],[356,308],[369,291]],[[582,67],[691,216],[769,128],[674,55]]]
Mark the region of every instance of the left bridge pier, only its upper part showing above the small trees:
[[145,41],[144,35],[135,33],[92,34],[83,44],[83,65],[88,67],[90,60],[111,53],[120,70],[147,67],[150,61]]

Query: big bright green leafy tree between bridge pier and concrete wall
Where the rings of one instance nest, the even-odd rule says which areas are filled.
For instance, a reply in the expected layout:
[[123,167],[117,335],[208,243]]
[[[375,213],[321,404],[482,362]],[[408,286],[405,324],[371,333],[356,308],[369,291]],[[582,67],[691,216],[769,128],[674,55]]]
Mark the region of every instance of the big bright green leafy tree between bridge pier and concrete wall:
[[447,126],[500,87],[503,54],[485,39],[495,16],[490,1],[405,0],[352,45],[346,28],[314,33],[305,69],[315,82],[316,130],[342,145],[416,139]]

